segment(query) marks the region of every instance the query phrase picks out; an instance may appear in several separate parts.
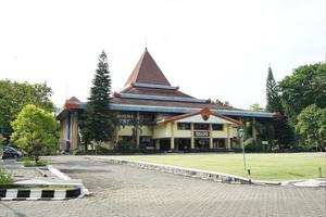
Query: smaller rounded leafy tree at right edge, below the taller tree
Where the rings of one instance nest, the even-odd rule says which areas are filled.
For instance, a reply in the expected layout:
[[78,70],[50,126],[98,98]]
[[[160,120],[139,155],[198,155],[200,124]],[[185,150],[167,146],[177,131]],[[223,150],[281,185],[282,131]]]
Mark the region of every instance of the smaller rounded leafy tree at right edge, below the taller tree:
[[296,130],[305,150],[326,144],[326,108],[309,105],[298,116]]

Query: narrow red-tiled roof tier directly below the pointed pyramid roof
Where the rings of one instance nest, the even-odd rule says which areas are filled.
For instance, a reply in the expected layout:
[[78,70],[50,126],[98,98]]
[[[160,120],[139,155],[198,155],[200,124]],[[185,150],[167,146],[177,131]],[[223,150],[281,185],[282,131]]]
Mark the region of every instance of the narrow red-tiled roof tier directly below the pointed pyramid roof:
[[164,95],[164,97],[177,97],[177,98],[192,98],[181,91],[175,89],[156,89],[156,88],[142,88],[130,86],[124,89],[121,93],[133,93],[133,94],[147,94],[147,95]]

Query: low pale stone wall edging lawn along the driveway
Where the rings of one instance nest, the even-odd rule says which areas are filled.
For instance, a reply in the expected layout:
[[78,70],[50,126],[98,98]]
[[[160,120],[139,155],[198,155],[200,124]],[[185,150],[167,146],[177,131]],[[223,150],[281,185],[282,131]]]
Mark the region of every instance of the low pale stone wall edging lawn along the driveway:
[[205,180],[218,181],[218,182],[227,182],[227,183],[252,183],[249,179],[243,177],[233,176],[228,174],[215,173],[215,171],[208,171],[201,169],[191,169],[185,167],[176,167],[176,166],[168,166],[162,164],[153,164],[153,163],[146,163],[146,162],[138,162],[138,161],[129,161],[129,159],[118,159],[118,158],[104,158],[104,157],[89,157],[89,158],[97,158],[102,159],[112,164],[121,164],[127,165],[133,167],[138,167],[142,169],[150,169],[156,171],[163,171],[168,174],[176,174],[180,176],[188,176],[193,178],[201,178]]

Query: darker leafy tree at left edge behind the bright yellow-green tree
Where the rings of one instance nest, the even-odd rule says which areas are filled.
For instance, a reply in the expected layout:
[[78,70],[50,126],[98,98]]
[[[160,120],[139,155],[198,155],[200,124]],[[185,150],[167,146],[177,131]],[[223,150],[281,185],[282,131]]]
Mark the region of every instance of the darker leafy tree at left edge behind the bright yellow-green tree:
[[0,80],[0,129],[11,132],[10,123],[26,104],[35,104],[48,112],[54,111],[50,101],[52,90],[47,84],[28,84]]

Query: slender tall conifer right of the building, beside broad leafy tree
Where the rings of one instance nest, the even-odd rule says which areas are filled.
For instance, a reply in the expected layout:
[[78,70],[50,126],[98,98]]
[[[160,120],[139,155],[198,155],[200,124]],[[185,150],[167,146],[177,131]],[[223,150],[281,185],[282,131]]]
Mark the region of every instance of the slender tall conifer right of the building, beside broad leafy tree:
[[266,81],[266,111],[271,113],[277,113],[277,116],[273,120],[275,139],[280,149],[289,148],[293,142],[293,130],[289,126],[288,117],[285,116],[277,84],[273,76],[271,66],[268,67],[268,75]]

